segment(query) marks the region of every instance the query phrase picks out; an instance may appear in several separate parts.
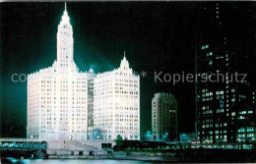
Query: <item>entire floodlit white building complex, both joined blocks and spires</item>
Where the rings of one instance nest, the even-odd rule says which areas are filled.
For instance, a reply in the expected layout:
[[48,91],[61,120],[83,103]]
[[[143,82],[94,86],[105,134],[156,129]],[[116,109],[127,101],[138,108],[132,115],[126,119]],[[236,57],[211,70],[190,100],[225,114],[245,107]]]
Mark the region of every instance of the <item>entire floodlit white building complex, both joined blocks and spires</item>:
[[120,135],[139,139],[139,76],[133,74],[125,57],[114,71],[80,72],[73,47],[73,29],[65,7],[57,32],[57,60],[28,76],[27,137],[83,140]]

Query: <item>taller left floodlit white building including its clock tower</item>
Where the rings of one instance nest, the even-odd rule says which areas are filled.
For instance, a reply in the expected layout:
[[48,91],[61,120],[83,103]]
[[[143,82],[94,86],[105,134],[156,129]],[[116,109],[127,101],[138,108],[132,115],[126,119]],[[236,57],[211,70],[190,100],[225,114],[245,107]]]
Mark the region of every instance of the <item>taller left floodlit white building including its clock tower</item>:
[[79,72],[73,45],[65,9],[57,32],[57,61],[28,77],[28,137],[87,137],[88,74]]

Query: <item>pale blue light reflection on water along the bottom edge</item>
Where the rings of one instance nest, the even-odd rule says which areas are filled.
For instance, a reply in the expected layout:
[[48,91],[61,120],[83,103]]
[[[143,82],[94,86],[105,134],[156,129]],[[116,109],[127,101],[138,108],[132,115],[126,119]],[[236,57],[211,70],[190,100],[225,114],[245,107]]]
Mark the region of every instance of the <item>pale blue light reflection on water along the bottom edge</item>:
[[[146,161],[134,160],[90,160],[90,159],[15,159],[8,158],[8,163],[16,164],[153,164]],[[155,162],[154,162],[155,163]],[[156,164],[156,163],[155,163]]]

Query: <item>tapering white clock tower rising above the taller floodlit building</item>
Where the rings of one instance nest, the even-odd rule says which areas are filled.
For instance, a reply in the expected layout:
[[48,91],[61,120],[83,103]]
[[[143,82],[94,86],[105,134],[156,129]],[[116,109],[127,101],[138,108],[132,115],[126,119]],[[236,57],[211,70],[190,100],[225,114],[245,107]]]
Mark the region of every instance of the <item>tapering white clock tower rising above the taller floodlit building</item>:
[[57,32],[57,62],[60,67],[70,67],[73,63],[73,29],[69,22],[69,16],[65,3],[65,11]]

